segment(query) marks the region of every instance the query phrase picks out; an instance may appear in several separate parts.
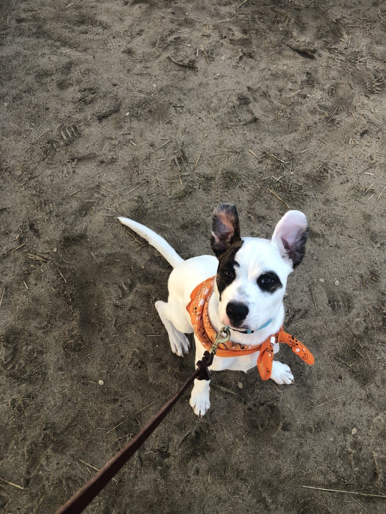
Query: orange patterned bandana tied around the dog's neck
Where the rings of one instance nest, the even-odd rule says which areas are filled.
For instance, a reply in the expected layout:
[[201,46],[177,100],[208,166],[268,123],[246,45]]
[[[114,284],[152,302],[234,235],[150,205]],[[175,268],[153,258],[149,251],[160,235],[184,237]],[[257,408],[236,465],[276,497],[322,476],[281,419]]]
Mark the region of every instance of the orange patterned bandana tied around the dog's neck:
[[[213,292],[213,280],[214,277],[210,277],[199,284],[192,291],[190,302],[186,306],[195,334],[205,350],[209,350],[217,336],[217,332],[210,323],[208,316],[208,303]],[[280,328],[277,334],[268,337],[258,346],[233,343],[232,341],[220,343],[216,355],[219,357],[240,357],[242,355],[260,352],[257,357],[257,369],[259,370],[262,380],[268,380],[272,372],[274,343],[286,343],[291,350],[307,364],[314,363],[311,352],[307,350],[304,344],[291,336],[291,334],[284,332],[283,328]]]

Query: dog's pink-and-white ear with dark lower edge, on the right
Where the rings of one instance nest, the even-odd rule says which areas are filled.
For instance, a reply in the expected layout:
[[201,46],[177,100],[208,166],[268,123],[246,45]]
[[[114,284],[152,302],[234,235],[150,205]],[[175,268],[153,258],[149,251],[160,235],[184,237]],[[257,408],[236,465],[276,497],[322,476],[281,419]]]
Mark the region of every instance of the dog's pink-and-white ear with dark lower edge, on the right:
[[275,227],[272,242],[283,259],[289,260],[295,268],[303,261],[308,237],[308,222],[300,211],[288,211]]

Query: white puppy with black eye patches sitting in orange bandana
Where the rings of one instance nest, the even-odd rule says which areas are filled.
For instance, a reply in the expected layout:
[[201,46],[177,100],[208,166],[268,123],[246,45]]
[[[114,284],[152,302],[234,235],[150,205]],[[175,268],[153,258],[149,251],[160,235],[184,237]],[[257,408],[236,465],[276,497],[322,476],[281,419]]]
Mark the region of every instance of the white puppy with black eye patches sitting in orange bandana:
[[[217,352],[210,371],[247,372],[256,366],[258,355],[262,378],[271,378],[277,384],[294,382],[289,366],[273,360],[273,354],[279,351],[279,342],[283,342],[277,334],[284,321],[287,278],[305,253],[305,214],[288,211],[277,223],[271,240],[241,237],[236,207],[221,204],[212,214],[210,245],[215,256],[200,255],[186,261],[151,229],[125,217],[118,220],[148,241],[173,267],[168,280],[168,301],[155,302],[173,353],[179,357],[186,355],[190,345],[185,334],[195,332],[198,362],[207,349],[205,344],[213,342],[212,332],[216,335],[228,327],[231,341],[223,345],[222,351],[231,353],[221,356],[221,351]],[[300,352],[303,360],[313,363],[302,343],[292,336],[284,342],[295,353]],[[268,361],[264,361],[264,353]],[[209,383],[210,380],[196,379],[191,392],[190,406],[200,418],[210,406]]]

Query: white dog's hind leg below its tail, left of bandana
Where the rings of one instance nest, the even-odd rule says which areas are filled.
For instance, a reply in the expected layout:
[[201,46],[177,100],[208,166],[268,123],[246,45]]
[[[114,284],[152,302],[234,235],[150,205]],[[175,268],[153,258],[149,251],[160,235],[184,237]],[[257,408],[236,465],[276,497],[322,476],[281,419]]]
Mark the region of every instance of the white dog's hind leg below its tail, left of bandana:
[[179,313],[181,307],[180,302],[173,302],[170,298],[168,302],[158,301],[155,302],[155,308],[160,315],[162,323],[167,330],[171,351],[183,357],[189,352],[189,341],[184,333],[192,332],[192,328],[184,318],[184,315]]

